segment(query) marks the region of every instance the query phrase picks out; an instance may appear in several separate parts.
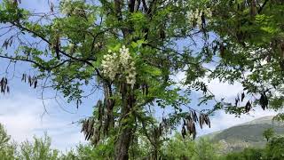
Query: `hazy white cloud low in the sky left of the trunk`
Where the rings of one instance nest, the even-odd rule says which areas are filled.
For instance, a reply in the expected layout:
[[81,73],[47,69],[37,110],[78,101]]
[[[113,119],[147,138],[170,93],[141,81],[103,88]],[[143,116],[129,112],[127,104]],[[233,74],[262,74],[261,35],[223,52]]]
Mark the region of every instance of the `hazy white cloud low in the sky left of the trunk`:
[[[80,126],[71,124],[72,120],[80,117],[59,113],[43,116],[42,100],[27,94],[0,96],[0,123],[4,124],[12,139],[17,142],[32,140],[33,136],[47,132],[51,136],[53,148],[62,151],[75,147],[80,141],[84,142]],[[49,111],[56,112],[58,106],[46,103]]]

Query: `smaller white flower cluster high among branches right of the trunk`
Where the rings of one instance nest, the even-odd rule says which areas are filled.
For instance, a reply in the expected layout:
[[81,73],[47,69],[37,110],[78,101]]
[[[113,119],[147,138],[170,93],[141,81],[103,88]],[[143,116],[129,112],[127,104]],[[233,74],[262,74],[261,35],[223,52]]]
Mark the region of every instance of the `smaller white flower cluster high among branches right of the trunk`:
[[209,21],[209,18],[212,17],[212,12],[209,8],[204,10],[196,9],[194,12],[187,12],[187,16],[189,19],[190,24],[197,24],[200,28],[202,27],[202,16],[204,18],[207,18]]

